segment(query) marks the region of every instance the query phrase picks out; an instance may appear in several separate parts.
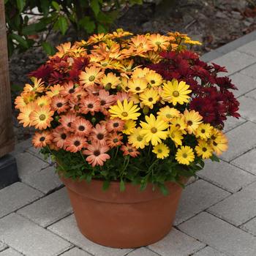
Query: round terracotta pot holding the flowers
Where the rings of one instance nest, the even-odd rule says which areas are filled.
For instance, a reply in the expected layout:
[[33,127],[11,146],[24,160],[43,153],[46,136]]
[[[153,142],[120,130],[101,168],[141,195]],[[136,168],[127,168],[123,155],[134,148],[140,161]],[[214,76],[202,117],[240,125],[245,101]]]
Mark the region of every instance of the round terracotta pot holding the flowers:
[[170,195],[164,196],[152,185],[141,192],[138,186],[111,182],[107,191],[102,181],[73,181],[61,178],[69,192],[80,232],[97,244],[114,248],[135,248],[162,239],[173,225],[182,188],[166,184]]

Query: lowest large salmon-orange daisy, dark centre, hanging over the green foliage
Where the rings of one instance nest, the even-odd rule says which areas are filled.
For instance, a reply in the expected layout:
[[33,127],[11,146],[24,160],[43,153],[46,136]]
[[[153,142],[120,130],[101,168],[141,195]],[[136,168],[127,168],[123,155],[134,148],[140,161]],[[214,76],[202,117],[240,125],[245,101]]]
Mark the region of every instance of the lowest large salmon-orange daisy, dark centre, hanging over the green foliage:
[[83,151],[83,154],[86,154],[89,157],[86,157],[86,161],[94,167],[95,165],[104,165],[104,162],[107,159],[110,159],[110,155],[106,154],[109,150],[108,146],[102,146],[100,143],[94,143],[87,146],[87,149]]

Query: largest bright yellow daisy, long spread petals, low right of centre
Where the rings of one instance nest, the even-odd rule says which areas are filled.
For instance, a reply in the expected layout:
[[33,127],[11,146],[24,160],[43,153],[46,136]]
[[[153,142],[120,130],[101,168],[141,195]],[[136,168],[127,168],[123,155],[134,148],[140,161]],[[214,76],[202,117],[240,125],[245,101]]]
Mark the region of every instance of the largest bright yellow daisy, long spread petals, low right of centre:
[[156,118],[153,114],[145,116],[146,122],[140,121],[141,135],[145,135],[146,142],[151,141],[153,146],[161,143],[167,138],[168,132],[165,131],[169,127],[165,121]]

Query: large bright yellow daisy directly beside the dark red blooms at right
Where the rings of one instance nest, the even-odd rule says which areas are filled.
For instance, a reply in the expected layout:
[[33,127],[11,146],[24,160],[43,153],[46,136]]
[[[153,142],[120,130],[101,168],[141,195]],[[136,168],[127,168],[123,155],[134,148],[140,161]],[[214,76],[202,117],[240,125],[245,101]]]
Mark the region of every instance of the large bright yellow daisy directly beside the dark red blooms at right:
[[173,79],[172,81],[167,81],[162,87],[162,99],[173,103],[175,106],[177,103],[183,105],[186,102],[189,102],[189,96],[192,91],[188,90],[189,85],[184,81],[178,83],[178,80]]

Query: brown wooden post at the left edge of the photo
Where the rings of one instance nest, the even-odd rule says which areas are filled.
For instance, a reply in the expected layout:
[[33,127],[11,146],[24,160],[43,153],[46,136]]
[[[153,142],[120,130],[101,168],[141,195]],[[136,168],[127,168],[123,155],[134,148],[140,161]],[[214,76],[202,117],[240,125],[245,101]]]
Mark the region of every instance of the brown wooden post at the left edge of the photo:
[[0,0],[0,157],[14,149],[4,0]]

